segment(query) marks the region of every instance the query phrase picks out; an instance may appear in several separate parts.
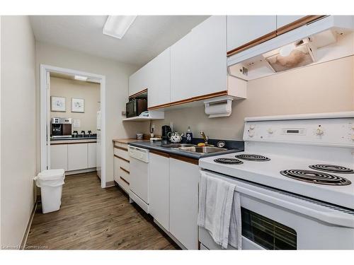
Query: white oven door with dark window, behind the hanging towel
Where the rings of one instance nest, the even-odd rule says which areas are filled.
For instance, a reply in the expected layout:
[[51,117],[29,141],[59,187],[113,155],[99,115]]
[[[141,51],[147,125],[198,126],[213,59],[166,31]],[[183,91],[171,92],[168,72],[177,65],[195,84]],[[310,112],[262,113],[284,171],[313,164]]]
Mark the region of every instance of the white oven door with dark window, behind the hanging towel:
[[[214,172],[207,175],[236,184],[242,249],[354,249],[354,211]],[[221,249],[204,228],[199,240],[208,249]]]

